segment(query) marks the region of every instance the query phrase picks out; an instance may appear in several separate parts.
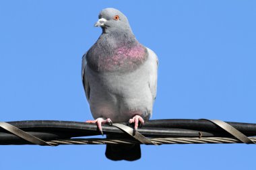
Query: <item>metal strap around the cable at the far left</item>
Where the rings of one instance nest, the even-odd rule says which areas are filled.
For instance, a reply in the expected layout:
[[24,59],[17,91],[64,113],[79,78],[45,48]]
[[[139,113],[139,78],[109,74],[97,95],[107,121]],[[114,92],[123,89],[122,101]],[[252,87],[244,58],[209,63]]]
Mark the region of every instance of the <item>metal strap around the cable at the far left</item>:
[[24,140],[27,140],[34,144],[38,144],[41,146],[55,146],[49,144],[48,142],[45,142],[44,140],[41,140],[40,138],[36,138],[36,136],[28,134],[27,132],[24,132],[23,130],[16,128],[15,126],[12,126],[11,124],[8,124],[6,122],[0,122],[0,127],[7,130],[8,132],[11,132],[11,134],[19,136],[20,138],[23,138]]

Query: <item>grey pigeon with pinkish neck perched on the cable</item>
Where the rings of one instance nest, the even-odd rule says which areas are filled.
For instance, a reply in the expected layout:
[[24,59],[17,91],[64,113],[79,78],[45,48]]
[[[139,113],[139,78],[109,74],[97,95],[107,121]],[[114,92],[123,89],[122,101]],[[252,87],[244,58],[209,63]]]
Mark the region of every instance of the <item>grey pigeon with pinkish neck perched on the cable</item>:
[[[86,122],[96,123],[101,133],[102,124],[119,122],[137,130],[152,116],[158,57],[137,41],[117,9],[102,9],[94,26],[102,34],[82,58],[82,83],[95,119]],[[105,155],[113,161],[135,161],[141,150],[139,144],[107,144]]]

